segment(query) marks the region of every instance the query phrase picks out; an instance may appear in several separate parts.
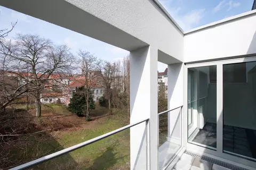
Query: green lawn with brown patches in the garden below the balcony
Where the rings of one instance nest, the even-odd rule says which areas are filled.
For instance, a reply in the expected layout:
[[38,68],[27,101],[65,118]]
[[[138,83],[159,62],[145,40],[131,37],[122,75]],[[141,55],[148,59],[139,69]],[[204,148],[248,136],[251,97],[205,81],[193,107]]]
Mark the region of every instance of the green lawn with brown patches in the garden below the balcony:
[[[24,109],[26,105],[19,105],[15,108]],[[33,114],[33,109],[29,112]],[[79,126],[77,125],[77,128],[76,125],[67,126],[57,131],[47,131],[45,134],[21,137],[19,138],[20,142],[13,142],[12,147],[9,146],[10,156],[13,160],[22,158],[22,162],[19,164],[26,163],[38,156],[41,157],[74,146],[129,124],[126,114],[114,111],[114,115],[110,116],[107,113],[107,108],[97,106],[92,112],[93,121],[86,122],[85,117],[73,115],[66,106],[56,104],[42,106],[43,118],[38,118],[38,120],[36,118],[39,122],[39,126],[35,126],[36,128],[40,128],[41,125],[43,128],[49,129],[47,121],[52,123],[51,120],[56,119],[62,119],[64,124],[65,122],[78,122]],[[54,126],[58,126],[58,124]],[[130,129],[29,169],[130,169]]]

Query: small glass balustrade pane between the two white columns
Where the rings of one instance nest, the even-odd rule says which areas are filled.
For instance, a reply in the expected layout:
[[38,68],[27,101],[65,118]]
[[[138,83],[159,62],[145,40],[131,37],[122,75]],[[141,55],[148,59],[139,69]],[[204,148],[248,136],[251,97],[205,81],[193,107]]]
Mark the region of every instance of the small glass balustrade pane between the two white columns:
[[159,169],[181,146],[181,108],[159,115]]

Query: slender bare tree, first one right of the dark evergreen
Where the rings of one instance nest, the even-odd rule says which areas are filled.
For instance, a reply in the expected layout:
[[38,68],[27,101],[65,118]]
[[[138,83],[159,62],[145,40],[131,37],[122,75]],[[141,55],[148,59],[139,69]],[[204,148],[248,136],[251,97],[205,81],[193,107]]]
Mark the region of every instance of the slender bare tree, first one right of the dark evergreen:
[[110,114],[111,111],[111,88],[113,88],[113,83],[115,81],[115,71],[116,71],[116,63],[110,63],[107,61],[99,61],[98,62],[98,71],[100,72],[102,78],[102,85],[105,88],[107,99],[108,99],[108,108]]

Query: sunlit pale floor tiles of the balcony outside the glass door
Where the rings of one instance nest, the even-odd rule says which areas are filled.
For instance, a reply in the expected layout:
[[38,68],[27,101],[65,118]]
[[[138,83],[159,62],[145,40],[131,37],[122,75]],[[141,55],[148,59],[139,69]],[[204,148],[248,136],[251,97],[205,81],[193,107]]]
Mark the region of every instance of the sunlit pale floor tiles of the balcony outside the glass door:
[[230,170],[226,167],[222,167],[216,164],[209,163],[205,160],[195,158],[193,156],[183,154],[179,161],[171,167],[167,167],[166,170]]

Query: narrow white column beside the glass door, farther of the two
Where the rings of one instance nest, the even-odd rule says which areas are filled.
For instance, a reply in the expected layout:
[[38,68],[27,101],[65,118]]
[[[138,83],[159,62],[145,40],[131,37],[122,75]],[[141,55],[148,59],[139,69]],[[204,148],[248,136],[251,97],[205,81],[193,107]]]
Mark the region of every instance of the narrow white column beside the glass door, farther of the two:
[[[183,63],[168,65],[168,109],[183,105]],[[181,145],[181,110],[168,114],[168,136],[171,142]]]

